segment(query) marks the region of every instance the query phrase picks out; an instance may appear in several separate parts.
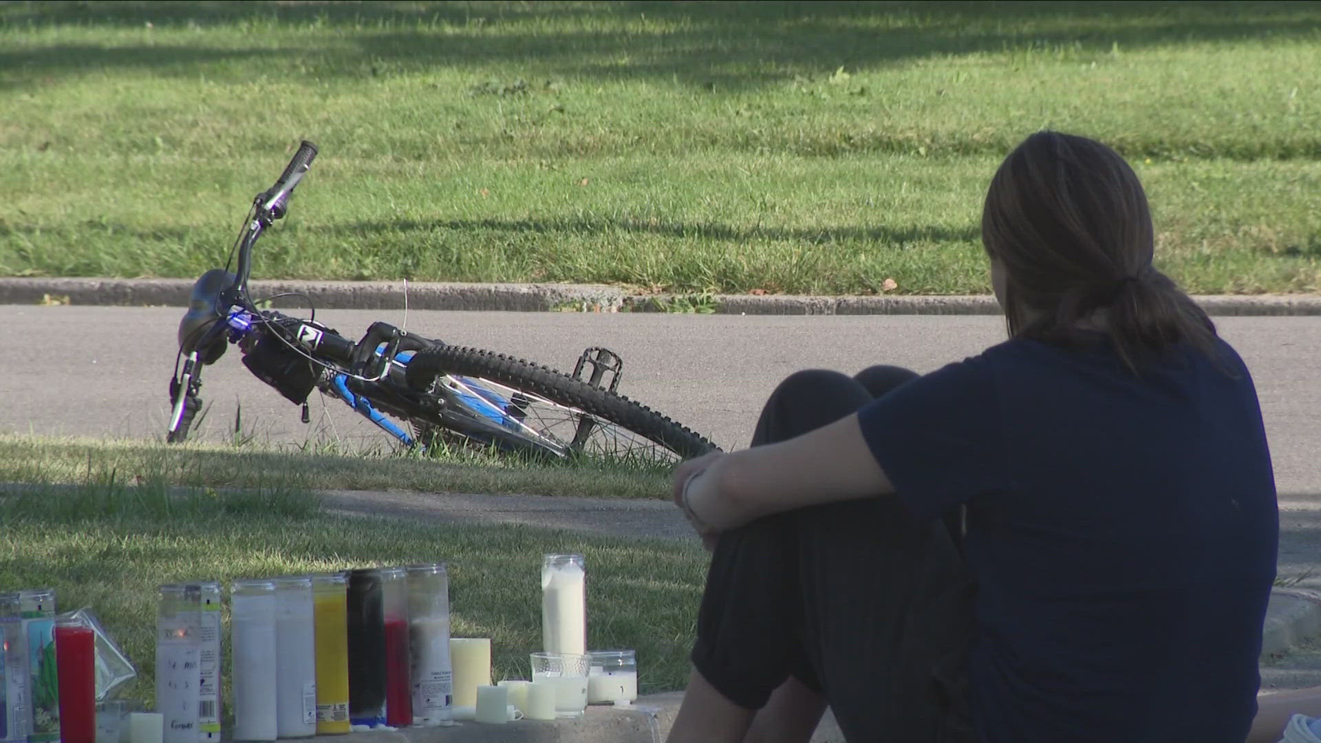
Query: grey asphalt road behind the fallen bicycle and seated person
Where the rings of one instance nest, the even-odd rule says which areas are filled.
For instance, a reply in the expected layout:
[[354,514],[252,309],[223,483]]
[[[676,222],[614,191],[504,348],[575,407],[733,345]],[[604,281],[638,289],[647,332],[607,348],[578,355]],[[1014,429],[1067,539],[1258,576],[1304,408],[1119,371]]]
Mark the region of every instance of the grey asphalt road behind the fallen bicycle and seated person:
[[[0,431],[159,438],[176,350],[177,308],[0,305]],[[400,312],[329,309],[321,319],[357,337]],[[1258,385],[1276,481],[1284,497],[1321,494],[1321,317],[1222,317]],[[857,372],[897,364],[915,372],[978,353],[1003,337],[989,316],[691,316],[412,312],[408,329],[571,369],[583,348],[625,361],[620,391],[724,448],[748,444],[761,402],[808,366]],[[230,350],[206,369],[203,434],[222,439],[242,401],[247,435],[272,443],[382,439],[337,401],[313,399],[313,422],[248,374]]]

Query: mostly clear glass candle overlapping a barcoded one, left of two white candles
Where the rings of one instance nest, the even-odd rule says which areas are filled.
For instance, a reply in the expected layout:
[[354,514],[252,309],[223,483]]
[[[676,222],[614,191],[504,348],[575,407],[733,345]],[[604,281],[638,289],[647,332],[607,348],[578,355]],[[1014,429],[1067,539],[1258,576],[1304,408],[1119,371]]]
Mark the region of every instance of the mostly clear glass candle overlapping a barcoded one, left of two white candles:
[[156,598],[156,711],[164,743],[197,743],[201,685],[201,591],[196,584],[161,586]]

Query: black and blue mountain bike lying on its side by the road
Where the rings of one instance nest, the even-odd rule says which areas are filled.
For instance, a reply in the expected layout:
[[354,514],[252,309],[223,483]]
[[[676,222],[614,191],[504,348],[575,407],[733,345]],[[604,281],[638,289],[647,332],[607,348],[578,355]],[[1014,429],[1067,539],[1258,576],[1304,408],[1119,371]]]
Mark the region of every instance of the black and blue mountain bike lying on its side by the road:
[[[304,140],[275,185],[254,198],[230,253],[230,263],[238,253],[235,271],[229,271],[230,263],[211,268],[193,286],[178,325],[166,442],[188,438],[202,406],[202,368],[217,362],[227,345],[236,345],[254,375],[303,407],[304,423],[309,422],[308,397],[316,389],[343,401],[410,450],[458,440],[501,452],[642,464],[716,450],[686,426],[618,394],[624,361],[609,349],[588,348],[573,373],[564,374],[386,323],[373,323],[361,340],[351,341],[316,320],[306,295],[299,295],[310,309],[306,320],[259,308],[247,288],[252,246],[284,218],[289,196],[316,155],[316,145]],[[269,299],[281,296],[288,295]]]

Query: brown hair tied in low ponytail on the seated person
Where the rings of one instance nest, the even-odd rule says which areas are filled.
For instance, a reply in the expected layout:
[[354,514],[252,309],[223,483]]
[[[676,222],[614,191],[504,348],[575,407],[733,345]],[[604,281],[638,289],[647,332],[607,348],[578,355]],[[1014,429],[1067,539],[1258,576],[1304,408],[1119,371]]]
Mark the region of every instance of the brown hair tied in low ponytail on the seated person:
[[1067,342],[1100,309],[1135,373],[1180,342],[1214,354],[1215,325],[1152,266],[1137,175],[1099,141],[1052,131],[1025,139],[991,180],[982,243],[1005,270],[1011,336]]

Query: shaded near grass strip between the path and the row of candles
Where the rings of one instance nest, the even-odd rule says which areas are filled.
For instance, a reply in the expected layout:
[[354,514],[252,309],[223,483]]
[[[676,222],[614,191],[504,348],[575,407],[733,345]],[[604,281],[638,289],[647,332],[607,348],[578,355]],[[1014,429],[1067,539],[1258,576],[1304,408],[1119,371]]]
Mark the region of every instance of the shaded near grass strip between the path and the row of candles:
[[491,639],[497,680],[530,678],[527,654],[540,649],[542,555],[563,551],[587,558],[588,644],[637,649],[642,693],[687,680],[707,565],[694,543],[333,517],[277,480],[172,498],[152,484],[5,493],[0,591],[53,587],[59,611],[91,608],[137,666],[132,698],[155,695],[160,583],[420,562],[449,566],[453,635]]

